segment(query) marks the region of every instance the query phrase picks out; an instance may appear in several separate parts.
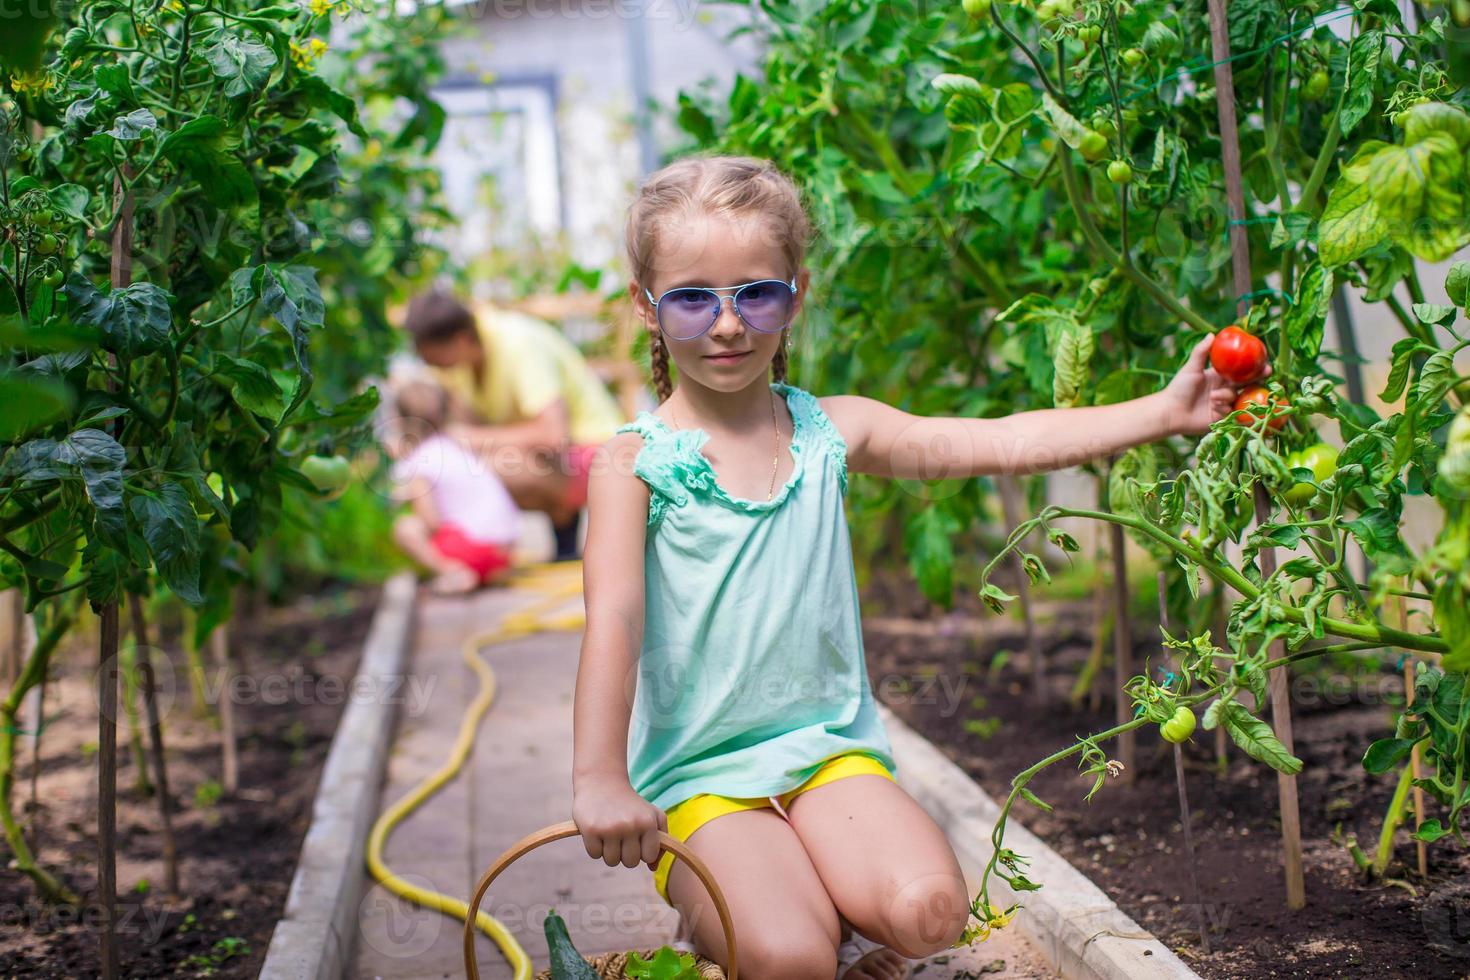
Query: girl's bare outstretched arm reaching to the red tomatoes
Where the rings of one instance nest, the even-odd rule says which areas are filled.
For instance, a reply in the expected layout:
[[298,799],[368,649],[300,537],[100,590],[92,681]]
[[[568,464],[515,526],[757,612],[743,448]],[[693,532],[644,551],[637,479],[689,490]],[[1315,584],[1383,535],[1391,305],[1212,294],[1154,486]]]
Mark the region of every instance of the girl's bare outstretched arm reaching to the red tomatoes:
[[1039,473],[1169,435],[1198,433],[1230,410],[1235,386],[1202,338],[1163,391],[1114,406],[1041,408],[1000,419],[914,416],[873,398],[833,395],[822,407],[848,447],[848,469],[904,479]]

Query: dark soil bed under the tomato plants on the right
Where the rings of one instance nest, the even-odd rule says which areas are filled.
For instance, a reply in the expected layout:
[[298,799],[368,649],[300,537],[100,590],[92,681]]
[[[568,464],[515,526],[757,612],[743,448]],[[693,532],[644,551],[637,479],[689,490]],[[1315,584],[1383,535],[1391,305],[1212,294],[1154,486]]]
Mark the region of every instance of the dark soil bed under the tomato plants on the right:
[[[989,616],[973,598],[951,613],[932,610],[898,577],[867,592],[875,695],[994,798],[1004,799],[1016,773],[1075,736],[1113,724],[1111,667],[1098,680],[1097,710],[1067,701],[1092,644],[1091,602],[1039,608],[1053,704],[1038,710],[1017,621]],[[1135,635],[1138,663],[1157,660],[1157,623],[1139,621]],[[1001,651],[1014,652],[992,670]],[[1335,840],[1341,827],[1369,855],[1377,846],[1396,779],[1369,776],[1360,760],[1392,732],[1394,674],[1298,676],[1292,692],[1295,748],[1305,764],[1298,777],[1305,909],[1285,905],[1276,773],[1230,745],[1220,776],[1214,733],[1202,727],[1185,746],[1208,955],[1189,898],[1173,754],[1157,730],[1139,732],[1132,783],[1113,782],[1085,804],[1088,783],[1067,761],[1030,783],[1054,813],[1026,804],[1014,813],[1204,977],[1470,976],[1470,855],[1442,840],[1429,849],[1429,879],[1420,879],[1405,868],[1416,857],[1401,830],[1389,871],[1401,884],[1367,884],[1342,837]]]

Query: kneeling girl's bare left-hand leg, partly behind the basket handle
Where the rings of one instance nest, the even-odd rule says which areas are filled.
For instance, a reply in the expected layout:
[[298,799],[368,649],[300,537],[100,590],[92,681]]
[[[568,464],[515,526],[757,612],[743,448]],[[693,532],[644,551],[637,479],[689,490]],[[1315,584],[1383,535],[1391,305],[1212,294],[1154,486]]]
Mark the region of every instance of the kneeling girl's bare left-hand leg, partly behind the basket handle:
[[[816,792],[816,790],[813,790]],[[773,808],[723,814],[688,840],[719,882],[735,921],[741,976],[820,980],[836,976],[836,908],[791,824]],[[692,927],[695,948],[729,965],[714,902],[694,871],[675,861],[669,899]]]

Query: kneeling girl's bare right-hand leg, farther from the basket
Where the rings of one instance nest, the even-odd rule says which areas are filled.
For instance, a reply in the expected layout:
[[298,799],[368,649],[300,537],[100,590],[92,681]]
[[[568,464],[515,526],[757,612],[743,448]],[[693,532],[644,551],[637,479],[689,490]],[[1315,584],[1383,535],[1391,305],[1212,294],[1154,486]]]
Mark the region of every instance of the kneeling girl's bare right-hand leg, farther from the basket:
[[939,826],[897,783],[848,776],[801,793],[786,817],[857,932],[910,959],[960,939],[970,911],[964,873]]

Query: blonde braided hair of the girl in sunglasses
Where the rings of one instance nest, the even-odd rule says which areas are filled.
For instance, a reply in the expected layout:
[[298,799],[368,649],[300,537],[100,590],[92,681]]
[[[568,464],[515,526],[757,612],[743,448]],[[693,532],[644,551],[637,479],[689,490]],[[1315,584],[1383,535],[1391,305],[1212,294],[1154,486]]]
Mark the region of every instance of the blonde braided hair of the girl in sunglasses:
[[[689,213],[757,216],[766,222],[786,259],[786,279],[797,275],[811,238],[801,191],[770,160],[735,156],[692,156],[654,172],[628,209],[625,239],[634,278],[648,285],[654,275],[659,237],[672,220]],[[788,328],[789,331],[789,328]],[[776,381],[786,381],[786,334],[772,361]],[[659,401],[673,394],[669,350],[653,335],[650,360]]]

